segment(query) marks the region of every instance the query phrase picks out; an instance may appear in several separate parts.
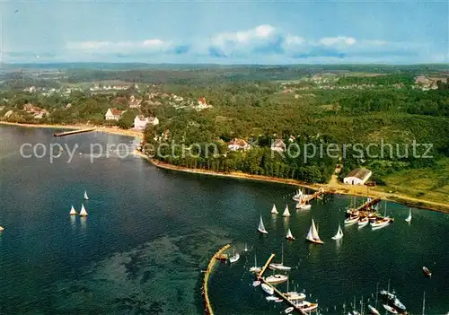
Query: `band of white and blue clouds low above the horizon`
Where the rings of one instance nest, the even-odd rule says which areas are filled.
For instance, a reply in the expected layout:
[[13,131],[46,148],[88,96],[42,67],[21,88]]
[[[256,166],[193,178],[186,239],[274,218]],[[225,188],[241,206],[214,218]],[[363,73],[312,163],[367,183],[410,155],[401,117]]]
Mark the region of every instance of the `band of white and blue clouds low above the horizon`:
[[[350,36],[351,34],[318,39],[311,39],[306,35],[278,29],[269,24],[260,24],[246,30],[219,32],[207,38],[71,41],[60,51],[52,51],[51,54],[42,52],[40,55],[48,60],[110,61],[119,58],[139,62],[182,60],[183,63],[246,64],[306,63],[315,60],[385,62],[389,58],[392,61],[403,58],[404,61],[410,62],[447,61],[444,54],[427,43],[356,39]],[[3,56],[7,61],[24,59],[28,55],[21,56],[20,53],[3,51]],[[432,60],[428,59],[430,56],[433,56]]]

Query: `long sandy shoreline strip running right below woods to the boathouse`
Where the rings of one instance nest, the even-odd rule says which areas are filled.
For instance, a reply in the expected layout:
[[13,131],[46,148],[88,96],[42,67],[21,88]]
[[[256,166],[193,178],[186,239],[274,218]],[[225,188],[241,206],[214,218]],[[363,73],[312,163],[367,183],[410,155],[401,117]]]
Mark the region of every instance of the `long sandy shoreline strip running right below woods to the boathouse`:
[[374,190],[373,188],[367,188],[365,186],[362,187],[350,187],[344,184],[308,184],[304,183],[297,179],[280,179],[280,178],[272,178],[269,176],[263,175],[251,175],[242,172],[218,172],[218,171],[207,171],[207,170],[197,170],[197,169],[189,169],[182,166],[176,166],[169,163],[156,161],[144,153],[139,153],[139,156],[144,157],[146,160],[151,162],[154,166],[170,170],[170,171],[183,171],[193,174],[203,174],[209,176],[217,176],[217,177],[227,177],[232,179],[246,179],[246,180],[256,180],[256,181],[264,181],[264,182],[272,182],[277,184],[286,184],[295,187],[304,187],[310,188],[313,190],[318,190],[319,188],[324,188],[325,193],[327,194],[337,194],[337,195],[348,195],[348,196],[358,196],[358,197],[371,197],[371,198],[381,198],[383,200],[388,200],[390,202],[394,202],[397,204],[401,204],[404,206],[411,206],[418,209],[431,210],[436,212],[441,212],[445,214],[449,214],[449,205],[436,203],[433,201],[428,201],[424,199],[418,199],[414,197],[403,196],[399,194],[390,194],[385,193],[380,190]]

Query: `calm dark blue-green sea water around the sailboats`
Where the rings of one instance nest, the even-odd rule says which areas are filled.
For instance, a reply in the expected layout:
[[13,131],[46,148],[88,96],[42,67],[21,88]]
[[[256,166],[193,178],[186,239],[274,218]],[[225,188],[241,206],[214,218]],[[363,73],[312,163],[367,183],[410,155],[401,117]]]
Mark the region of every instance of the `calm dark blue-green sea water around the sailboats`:
[[[387,205],[391,226],[344,228],[348,197],[313,202],[311,211],[284,219],[293,188],[235,179],[163,171],[145,160],[111,153],[91,163],[92,143],[130,144],[129,137],[101,133],[54,138],[51,129],[0,127],[0,313],[1,314],[199,314],[201,270],[225,243],[239,251],[235,264],[218,265],[210,297],[216,314],[278,314],[284,303],[266,302],[251,286],[248,267],[254,254],[262,264],[271,252],[290,272],[290,287],[318,300],[322,313],[341,314],[356,297],[373,300],[376,284],[391,287],[420,314],[449,311],[449,215]],[[66,152],[53,163],[48,156],[24,159],[23,143],[79,144],[72,162]],[[83,153],[83,154],[79,154]],[[84,202],[84,189],[91,199]],[[70,217],[84,202],[89,216]],[[362,202],[362,200],[359,200]],[[262,214],[269,234],[256,231]],[[304,241],[311,218],[324,245]],[[291,228],[296,241],[284,236]],[[427,278],[421,271],[433,272]],[[280,287],[286,284],[280,284]],[[379,307],[378,309],[381,309]]]

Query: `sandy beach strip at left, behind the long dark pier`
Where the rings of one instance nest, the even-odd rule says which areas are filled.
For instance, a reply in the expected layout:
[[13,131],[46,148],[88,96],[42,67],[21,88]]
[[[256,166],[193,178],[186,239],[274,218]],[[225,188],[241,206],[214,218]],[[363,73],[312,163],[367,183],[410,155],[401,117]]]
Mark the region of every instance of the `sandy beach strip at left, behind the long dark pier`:
[[17,127],[27,127],[27,128],[54,128],[54,129],[74,129],[80,130],[85,128],[95,128],[92,132],[103,132],[111,135],[119,135],[119,136],[134,136],[139,138],[140,140],[144,139],[144,133],[136,130],[126,130],[120,128],[113,127],[105,127],[105,126],[95,126],[95,125],[61,125],[61,124],[22,124],[22,123],[13,123],[9,121],[0,121],[0,125],[5,126],[17,126]]

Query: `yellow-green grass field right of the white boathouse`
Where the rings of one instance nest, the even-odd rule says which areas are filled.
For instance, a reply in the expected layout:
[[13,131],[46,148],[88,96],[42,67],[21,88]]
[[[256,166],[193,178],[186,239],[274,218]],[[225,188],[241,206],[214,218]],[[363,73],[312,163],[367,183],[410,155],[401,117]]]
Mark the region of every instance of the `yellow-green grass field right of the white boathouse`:
[[378,188],[385,192],[449,203],[449,158],[438,162],[435,169],[398,171],[384,180],[387,186]]

